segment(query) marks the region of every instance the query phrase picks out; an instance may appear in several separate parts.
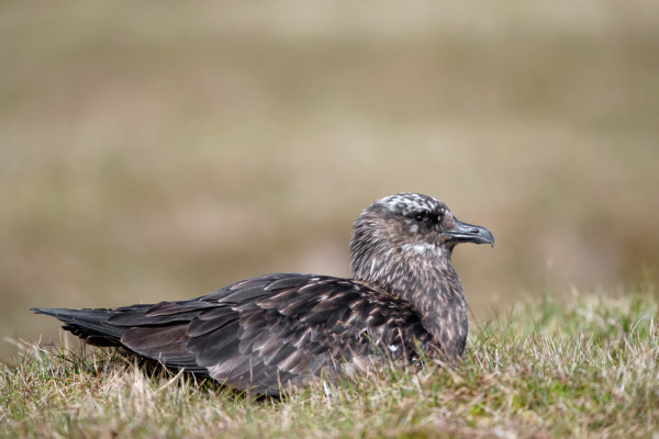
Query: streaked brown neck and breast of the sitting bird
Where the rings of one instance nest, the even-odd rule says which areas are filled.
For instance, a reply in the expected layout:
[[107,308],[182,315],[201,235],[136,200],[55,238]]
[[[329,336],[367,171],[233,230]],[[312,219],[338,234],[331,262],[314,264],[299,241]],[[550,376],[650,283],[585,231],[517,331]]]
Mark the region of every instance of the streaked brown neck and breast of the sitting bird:
[[420,316],[434,346],[448,360],[465,351],[468,330],[467,300],[450,264],[450,250],[436,257],[390,251],[364,260],[356,279],[376,283],[404,302]]

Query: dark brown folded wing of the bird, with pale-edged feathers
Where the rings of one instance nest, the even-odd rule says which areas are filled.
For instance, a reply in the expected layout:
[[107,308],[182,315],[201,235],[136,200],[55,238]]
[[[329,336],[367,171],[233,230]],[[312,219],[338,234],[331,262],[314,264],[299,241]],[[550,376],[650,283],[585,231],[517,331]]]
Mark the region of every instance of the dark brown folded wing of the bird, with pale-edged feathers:
[[398,358],[414,351],[415,341],[429,340],[417,315],[390,294],[298,273],[249,279],[190,301],[36,311],[90,342],[118,344],[267,394],[344,365],[362,367],[373,353]]

